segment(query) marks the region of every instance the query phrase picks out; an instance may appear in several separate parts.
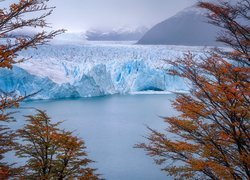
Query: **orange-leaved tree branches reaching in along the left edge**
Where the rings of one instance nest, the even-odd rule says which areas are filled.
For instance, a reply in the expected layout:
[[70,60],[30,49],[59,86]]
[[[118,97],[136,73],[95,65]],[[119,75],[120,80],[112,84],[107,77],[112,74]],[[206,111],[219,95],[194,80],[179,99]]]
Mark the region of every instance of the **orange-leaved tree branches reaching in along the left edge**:
[[[43,31],[48,27],[46,17],[54,9],[48,7],[47,2],[48,0],[19,0],[18,3],[11,4],[9,9],[0,8],[0,68],[11,69],[14,64],[27,60],[18,58],[18,53],[27,48],[36,48],[64,31]],[[41,32],[33,35],[15,35],[17,30],[25,28],[40,28]],[[14,172],[10,165],[3,162],[4,154],[13,147],[14,138],[8,126],[13,120],[12,113],[6,113],[6,110],[18,107],[19,102],[27,97],[17,96],[13,92],[3,92],[0,89],[0,176],[4,178],[8,178]]]

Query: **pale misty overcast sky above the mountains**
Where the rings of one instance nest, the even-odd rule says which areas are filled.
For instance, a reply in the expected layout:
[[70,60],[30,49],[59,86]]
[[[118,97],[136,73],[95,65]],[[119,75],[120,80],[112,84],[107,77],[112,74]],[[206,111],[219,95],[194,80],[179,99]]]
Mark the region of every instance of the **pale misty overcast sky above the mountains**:
[[56,9],[48,21],[53,27],[65,28],[69,32],[84,32],[92,28],[151,27],[191,6],[195,1],[50,0],[50,4],[56,6]]

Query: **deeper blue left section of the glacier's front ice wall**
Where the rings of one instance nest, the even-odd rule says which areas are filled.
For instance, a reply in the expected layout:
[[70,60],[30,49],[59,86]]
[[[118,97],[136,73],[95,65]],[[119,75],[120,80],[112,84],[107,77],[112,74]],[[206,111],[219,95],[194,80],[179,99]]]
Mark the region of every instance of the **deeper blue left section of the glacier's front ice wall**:
[[15,67],[12,70],[0,70],[0,87],[4,92],[16,92],[20,95],[37,93],[36,99],[59,99],[79,97],[79,93],[70,84],[58,85],[48,77],[41,78]]

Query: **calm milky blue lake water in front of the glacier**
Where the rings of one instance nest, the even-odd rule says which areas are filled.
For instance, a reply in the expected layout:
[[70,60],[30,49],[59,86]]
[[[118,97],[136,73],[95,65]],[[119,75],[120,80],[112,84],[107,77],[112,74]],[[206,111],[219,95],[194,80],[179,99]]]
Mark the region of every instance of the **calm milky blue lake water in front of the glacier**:
[[[175,95],[113,95],[95,98],[43,100],[22,103],[17,122],[33,114],[29,107],[46,110],[53,122],[64,120],[62,127],[83,138],[89,158],[107,180],[163,180],[167,177],[142,149],[149,131],[164,130],[161,117],[176,115],[171,107]],[[22,114],[22,115],[21,115]],[[10,158],[10,157],[9,157]],[[19,160],[20,161],[20,160]]]

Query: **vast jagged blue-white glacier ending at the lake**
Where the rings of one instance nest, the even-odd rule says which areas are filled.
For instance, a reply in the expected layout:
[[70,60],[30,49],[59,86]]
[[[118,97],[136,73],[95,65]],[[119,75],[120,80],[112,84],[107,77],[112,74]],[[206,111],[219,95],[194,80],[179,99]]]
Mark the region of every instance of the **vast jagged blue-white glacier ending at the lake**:
[[0,69],[0,89],[32,99],[94,97],[136,92],[188,91],[180,77],[170,76],[164,60],[203,47],[133,44],[60,44],[21,52],[31,59],[12,70]]

